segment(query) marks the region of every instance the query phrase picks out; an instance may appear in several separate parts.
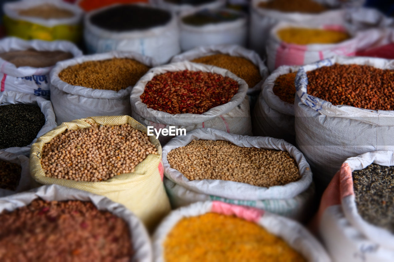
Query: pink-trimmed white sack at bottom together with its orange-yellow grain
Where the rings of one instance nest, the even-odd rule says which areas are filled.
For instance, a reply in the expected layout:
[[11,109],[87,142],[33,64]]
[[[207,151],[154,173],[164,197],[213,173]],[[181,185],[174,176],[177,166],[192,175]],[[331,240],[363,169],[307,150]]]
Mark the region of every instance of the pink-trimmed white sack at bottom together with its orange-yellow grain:
[[174,210],[153,236],[155,261],[330,261],[299,223],[220,201]]

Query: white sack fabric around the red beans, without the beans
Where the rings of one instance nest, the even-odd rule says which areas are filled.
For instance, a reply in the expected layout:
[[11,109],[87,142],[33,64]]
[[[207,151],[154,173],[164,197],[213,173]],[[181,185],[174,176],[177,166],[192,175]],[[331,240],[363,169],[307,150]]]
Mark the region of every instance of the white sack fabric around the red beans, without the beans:
[[[145,103],[142,103],[139,96],[143,94],[145,85],[151,81],[154,76],[183,70],[210,72],[230,77],[238,82],[238,92],[228,103],[213,107],[203,114],[169,114],[167,112],[148,108]],[[188,61],[158,66],[152,68],[147,74],[141,77],[131,91],[130,103],[132,117],[145,126],[153,126],[157,132],[159,132],[160,128],[169,129],[170,126],[174,128],[184,128],[186,129],[186,133],[197,128],[210,127],[232,134],[252,135],[249,101],[246,95],[247,90],[248,85],[243,79],[229,70],[216,66],[191,63]],[[156,131],[154,132],[156,133]],[[160,134],[158,139],[162,146],[164,146],[172,137],[175,136],[164,136]]]

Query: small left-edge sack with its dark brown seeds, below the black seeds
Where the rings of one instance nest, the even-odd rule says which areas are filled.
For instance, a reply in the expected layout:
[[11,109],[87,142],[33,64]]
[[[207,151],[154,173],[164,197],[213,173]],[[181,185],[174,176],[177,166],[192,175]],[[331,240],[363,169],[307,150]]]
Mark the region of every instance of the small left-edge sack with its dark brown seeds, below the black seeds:
[[0,151],[0,197],[30,189],[29,158]]

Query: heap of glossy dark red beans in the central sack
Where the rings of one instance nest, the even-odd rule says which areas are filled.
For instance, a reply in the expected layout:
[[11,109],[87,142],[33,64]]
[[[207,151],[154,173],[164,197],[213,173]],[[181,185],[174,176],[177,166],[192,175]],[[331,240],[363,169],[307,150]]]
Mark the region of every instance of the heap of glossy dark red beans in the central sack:
[[152,78],[140,96],[148,108],[170,114],[203,114],[228,103],[238,92],[238,82],[219,74],[167,72]]

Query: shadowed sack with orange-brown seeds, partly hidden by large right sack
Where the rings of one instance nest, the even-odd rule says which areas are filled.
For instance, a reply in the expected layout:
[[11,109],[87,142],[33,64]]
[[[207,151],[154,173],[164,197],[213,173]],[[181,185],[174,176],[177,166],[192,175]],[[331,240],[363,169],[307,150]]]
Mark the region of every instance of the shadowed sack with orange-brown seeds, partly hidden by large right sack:
[[280,66],[262,85],[252,114],[253,135],[281,138],[295,144],[295,78],[299,66]]

